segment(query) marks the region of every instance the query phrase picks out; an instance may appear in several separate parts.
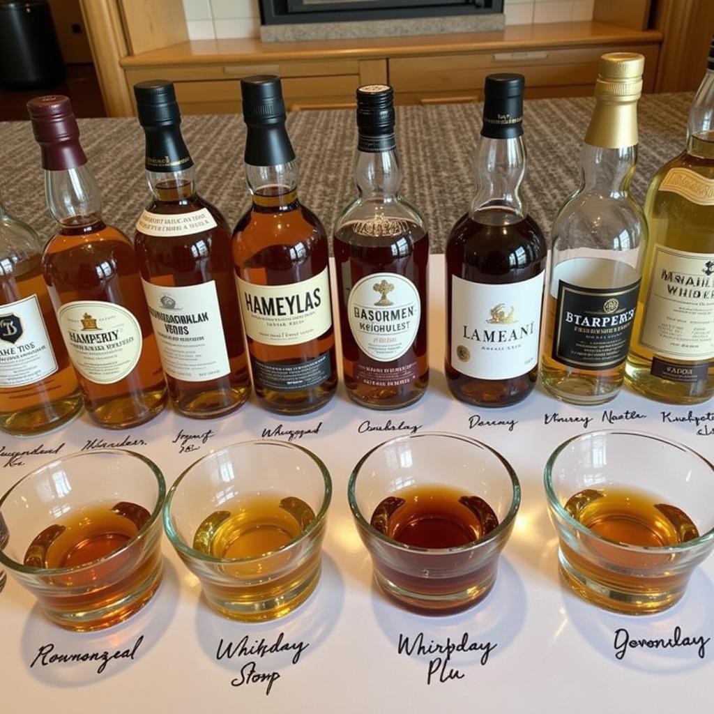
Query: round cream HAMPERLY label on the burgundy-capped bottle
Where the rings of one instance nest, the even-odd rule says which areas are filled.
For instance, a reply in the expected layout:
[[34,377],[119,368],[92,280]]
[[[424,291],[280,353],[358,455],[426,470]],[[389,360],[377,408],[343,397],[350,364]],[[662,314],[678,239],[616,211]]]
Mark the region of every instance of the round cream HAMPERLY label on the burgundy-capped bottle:
[[139,363],[141,326],[121,305],[78,300],[61,306],[57,320],[74,368],[90,382],[114,384]]

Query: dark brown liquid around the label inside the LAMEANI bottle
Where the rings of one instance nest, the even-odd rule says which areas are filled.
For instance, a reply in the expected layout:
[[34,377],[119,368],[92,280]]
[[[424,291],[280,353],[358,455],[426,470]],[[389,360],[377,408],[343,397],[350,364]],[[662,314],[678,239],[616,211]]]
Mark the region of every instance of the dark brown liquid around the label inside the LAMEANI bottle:
[[477,223],[466,213],[446,243],[446,381],[453,396],[478,406],[515,404],[533,391],[538,376],[536,364],[509,379],[478,379],[451,363],[451,276],[494,285],[528,280],[545,270],[547,247],[538,224],[530,216],[508,223],[508,214],[501,213],[503,221],[493,221],[497,225]]

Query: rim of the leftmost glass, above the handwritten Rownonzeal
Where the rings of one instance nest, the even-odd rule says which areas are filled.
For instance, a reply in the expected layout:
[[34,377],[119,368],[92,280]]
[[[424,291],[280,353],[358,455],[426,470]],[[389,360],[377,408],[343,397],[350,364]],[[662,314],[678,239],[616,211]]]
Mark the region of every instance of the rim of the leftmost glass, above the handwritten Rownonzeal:
[[149,466],[149,471],[154,475],[156,478],[156,484],[159,487],[159,493],[156,496],[156,505],[154,506],[154,509],[151,511],[151,515],[149,518],[147,518],[146,523],[144,523],[141,528],[139,528],[139,531],[136,531],[134,535],[129,538],[129,540],[124,543],[124,545],[121,545],[120,548],[117,548],[116,550],[112,550],[111,553],[107,553],[107,555],[103,555],[101,558],[95,558],[94,560],[89,560],[87,563],[82,563],[82,565],[72,565],[71,568],[35,568],[30,565],[24,565],[24,563],[18,563],[16,560],[13,560],[12,558],[9,558],[9,556],[5,555],[5,546],[0,548],[0,563],[2,565],[5,565],[7,568],[10,568],[10,570],[14,570],[18,573],[24,573],[26,575],[41,575],[41,576],[56,576],[56,575],[71,575],[72,573],[79,573],[81,570],[84,570],[86,568],[94,568],[96,565],[99,563],[106,563],[108,560],[111,560],[112,558],[116,557],[117,555],[121,555],[121,553],[126,552],[126,550],[129,550],[134,543],[138,542],[139,540],[143,540],[144,536],[146,533],[149,532],[149,529],[151,526],[156,523],[157,518],[159,518],[159,514],[161,513],[161,508],[164,506],[164,498],[166,497],[166,481],[164,481],[164,475],[161,473],[161,469],[159,466],[156,466],[156,463],[154,461],[151,461],[150,458],[147,458],[141,453],[137,453],[136,451],[130,451],[129,449],[123,449],[123,448],[102,448],[102,449],[96,449],[93,451],[75,451],[74,453],[68,454],[67,456],[63,456],[61,458],[56,458],[54,461],[49,461],[48,463],[44,463],[42,466],[39,466],[38,468],[35,468],[33,471],[30,471],[30,473],[27,473],[25,476],[23,476],[19,481],[16,481],[7,491],[4,493],[2,498],[0,498],[0,513],[2,511],[2,506],[7,500],[7,498],[10,496],[10,494],[15,490],[17,486],[19,486],[21,483],[24,481],[28,480],[29,478],[32,478],[33,476],[37,476],[39,472],[45,471],[46,469],[53,468],[59,463],[62,463],[63,461],[71,461],[76,458],[79,458],[81,456],[91,456],[92,454],[112,454],[116,456],[117,453],[119,454],[124,454],[126,456],[131,456],[134,458],[138,458],[139,461],[143,461],[146,466]]

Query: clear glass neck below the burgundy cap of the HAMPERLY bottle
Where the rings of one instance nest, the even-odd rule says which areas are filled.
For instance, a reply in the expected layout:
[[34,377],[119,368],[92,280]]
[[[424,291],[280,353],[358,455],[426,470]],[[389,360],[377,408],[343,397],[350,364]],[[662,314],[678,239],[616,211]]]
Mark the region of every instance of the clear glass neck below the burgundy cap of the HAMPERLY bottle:
[[101,221],[101,191],[87,164],[45,171],[45,195],[60,226],[84,228]]

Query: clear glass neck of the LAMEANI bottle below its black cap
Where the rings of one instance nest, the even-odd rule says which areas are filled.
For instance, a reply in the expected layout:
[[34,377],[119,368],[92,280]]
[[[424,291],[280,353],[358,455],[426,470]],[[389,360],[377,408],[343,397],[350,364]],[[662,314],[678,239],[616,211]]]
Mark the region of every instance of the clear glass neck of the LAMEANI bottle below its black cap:
[[491,139],[481,136],[476,144],[476,196],[471,201],[471,218],[478,223],[509,223],[526,216],[521,183],[526,174],[523,136]]

